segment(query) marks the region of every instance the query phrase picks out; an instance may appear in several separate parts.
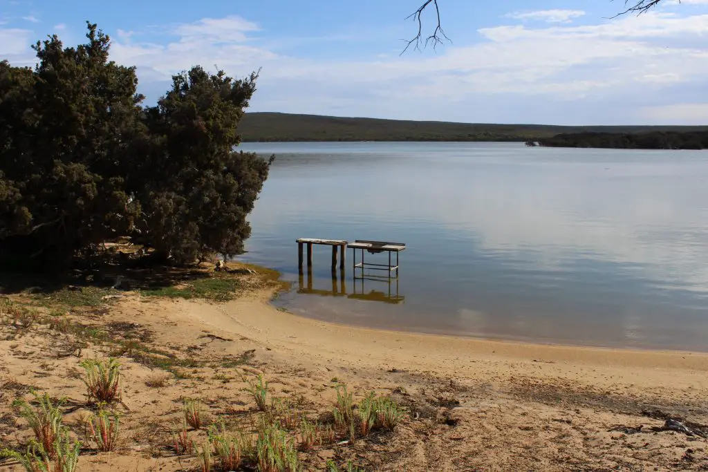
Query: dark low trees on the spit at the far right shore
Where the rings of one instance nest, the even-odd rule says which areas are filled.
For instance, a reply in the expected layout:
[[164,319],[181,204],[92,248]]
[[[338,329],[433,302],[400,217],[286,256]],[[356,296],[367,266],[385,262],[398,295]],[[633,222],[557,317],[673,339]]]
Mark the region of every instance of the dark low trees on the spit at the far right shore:
[[541,146],[613,149],[707,149],[708,131],[575,133],[539,139]]

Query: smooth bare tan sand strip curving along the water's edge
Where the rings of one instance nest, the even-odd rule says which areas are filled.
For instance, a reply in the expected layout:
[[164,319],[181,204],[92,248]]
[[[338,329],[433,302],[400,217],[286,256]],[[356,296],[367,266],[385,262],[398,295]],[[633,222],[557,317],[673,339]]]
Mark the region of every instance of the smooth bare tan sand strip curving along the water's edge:
[[622,384],[636,391],[708,388],[708,354],[701,352],[539,345],[360,328],[280,311],[270,304],[268,294],[230,301],[220,310],[203,309],[209,313],[200,316],[203,323],[276,347],[286,357],[299,352],[309,364],[358,364],[456,378],[510,379],[528,370],[534,376],[595,387]]

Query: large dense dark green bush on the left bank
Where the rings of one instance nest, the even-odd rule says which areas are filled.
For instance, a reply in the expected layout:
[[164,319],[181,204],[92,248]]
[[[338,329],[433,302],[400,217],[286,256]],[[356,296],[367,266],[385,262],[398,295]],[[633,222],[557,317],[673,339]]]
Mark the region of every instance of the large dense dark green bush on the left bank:
[[233,255],[268,162],[234,152],[255,88],[200,67],[142,106],[135,67],[108,60],[108,36],[34,46],[35,69],[0,63],[0,260],[66,267],[116,236],[176,263]]

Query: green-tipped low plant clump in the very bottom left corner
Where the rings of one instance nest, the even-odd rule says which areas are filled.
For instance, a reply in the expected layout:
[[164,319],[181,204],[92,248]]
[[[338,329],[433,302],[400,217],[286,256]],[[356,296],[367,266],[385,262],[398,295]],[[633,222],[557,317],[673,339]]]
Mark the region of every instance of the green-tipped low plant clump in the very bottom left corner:
[[79,449],[81,443],[69,438],[67,430],[61,430],[50,449],[31,439],[25,454],[6,449],[0,451],[0,457],[15,459],[27,472],[74,472],[79,461]]

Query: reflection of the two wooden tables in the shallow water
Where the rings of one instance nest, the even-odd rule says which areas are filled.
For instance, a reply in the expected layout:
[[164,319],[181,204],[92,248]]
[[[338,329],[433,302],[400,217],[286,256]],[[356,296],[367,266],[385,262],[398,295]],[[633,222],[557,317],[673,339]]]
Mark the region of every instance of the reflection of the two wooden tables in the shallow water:
[[[315,288],[312,270],[308,270],[307,275],[300,272],[297,278],[297,293],[319,295],[320,297],[347,297],[348,299],[380,301],[388,304],[400,304],[406,298],[399,294],[398,277],[355,276],[352,280],[352,291],[347,292],[344,270],[333,270],[331,282],[329,289]],[[373,289],[372,285],[382,289]]]

